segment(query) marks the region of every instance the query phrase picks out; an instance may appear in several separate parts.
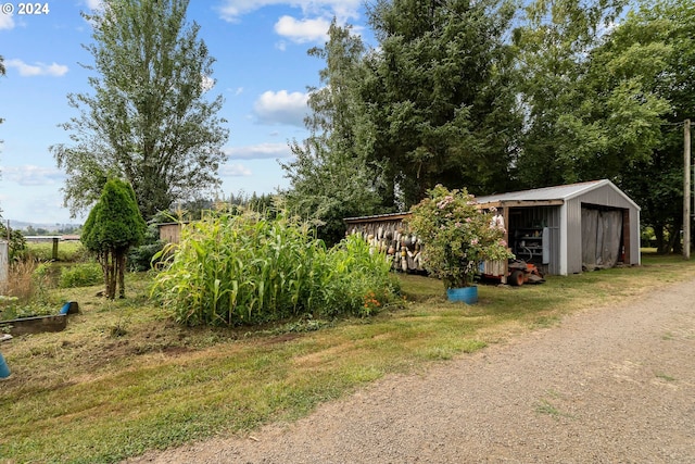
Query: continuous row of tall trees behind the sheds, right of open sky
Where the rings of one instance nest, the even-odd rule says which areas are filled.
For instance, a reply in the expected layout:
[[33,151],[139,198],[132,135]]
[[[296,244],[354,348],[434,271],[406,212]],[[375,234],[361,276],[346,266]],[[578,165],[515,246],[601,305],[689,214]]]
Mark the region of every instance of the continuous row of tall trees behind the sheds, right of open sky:
[[289,204],[326,235],[437,184],[490,195],[608,178],[659,250],[678,251],[691,1],[378,0],[368,17],[376,45],[333,22],[309,51],[326,62],[311,136],[283,165]]

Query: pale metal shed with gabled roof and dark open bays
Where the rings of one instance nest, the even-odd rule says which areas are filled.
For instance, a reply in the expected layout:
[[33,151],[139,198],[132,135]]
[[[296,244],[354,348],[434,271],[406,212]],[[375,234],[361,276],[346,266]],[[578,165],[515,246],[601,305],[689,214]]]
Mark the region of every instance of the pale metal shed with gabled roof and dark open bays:
[[515,254],[546,274],[641,264],[640,206],[610,180],[478,197],[504,215]]

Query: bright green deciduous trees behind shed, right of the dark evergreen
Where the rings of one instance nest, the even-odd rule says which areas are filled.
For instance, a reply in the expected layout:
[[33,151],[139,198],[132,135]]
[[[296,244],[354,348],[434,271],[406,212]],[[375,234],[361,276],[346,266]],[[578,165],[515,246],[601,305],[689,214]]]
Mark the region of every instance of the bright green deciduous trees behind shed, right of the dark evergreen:
[[519,178],[610,178],[669,251],[682,226],[682,123],[695,108],[695,7],[643,1],[614,24],[623,3],[538,0],[527,10],[515,35],[528,114]]

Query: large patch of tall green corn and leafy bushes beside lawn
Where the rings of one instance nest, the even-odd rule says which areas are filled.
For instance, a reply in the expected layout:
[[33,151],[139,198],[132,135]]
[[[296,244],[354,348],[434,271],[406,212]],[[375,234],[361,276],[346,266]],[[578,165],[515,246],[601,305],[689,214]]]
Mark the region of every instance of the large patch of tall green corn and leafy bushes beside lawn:
[[167,246],[152,294],[188,325],[240,325],[315,316],[369,315],[394,300],[382,254],[359,237],[326,249],[308,226],[282,214],[218,214],[187,224]]

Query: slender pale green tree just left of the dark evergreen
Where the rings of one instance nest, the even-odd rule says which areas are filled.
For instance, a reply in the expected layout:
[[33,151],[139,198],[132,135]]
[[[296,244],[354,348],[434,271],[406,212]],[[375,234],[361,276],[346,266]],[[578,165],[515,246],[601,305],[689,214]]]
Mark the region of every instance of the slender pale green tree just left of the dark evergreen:
[[343,218],[381,211],[380,174],[358,150],[355,126],[364,117],[358,86],[365,52],[350,27],[332,22],[329,41],[309,54],[326,60],[321,88],[312,88],[312,114],[305,123],[309,137],[291,145],[295,159],[282,164],[291,188],[283,192],[287,206],[318,223],[318,235],[332,244],[344,236]]

